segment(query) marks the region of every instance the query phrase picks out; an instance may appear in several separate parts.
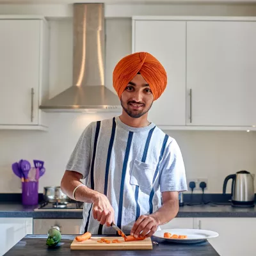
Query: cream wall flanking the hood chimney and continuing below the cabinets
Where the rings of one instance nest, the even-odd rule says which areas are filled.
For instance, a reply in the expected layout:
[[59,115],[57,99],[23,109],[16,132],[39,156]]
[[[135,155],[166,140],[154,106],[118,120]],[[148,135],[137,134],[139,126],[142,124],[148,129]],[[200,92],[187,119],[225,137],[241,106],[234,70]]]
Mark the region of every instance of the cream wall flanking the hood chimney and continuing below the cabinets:
[[[185,12],[186,6],[182,8],[182,12]],[[200,10],[202,9],[204,8],[201,7]],[[244,8],[241,10],[244,13]],[[214,8],[212,15],[218,15],[218,12],[222,15],[221,6]],[[236,6],[235,15],[237,12]],[[72,82],[72,21],[51,20],[50,23],[49,86],[52,97]],[[131,19],[107,19],[106,33],[106,86],[115,92],[112,88],[113,68],[120,58],[131,53]],[[31,162],[33,159],[45,161],[46,173],[40,179],[40,192],[44,186],[60,185],[65,164],[84,127],[92,121],[109,118],[113,114],[51,113],[48,116],[49,132],[0,130],[0,193],[20,192],[20,182],[13,175],[11,165],[21,158]],[[188,179],[206,177],[209,182],[207,192],[221,193],[223,180],[230,173],[239,170],[256,173],[256,132],[166,132],[180,145]]]

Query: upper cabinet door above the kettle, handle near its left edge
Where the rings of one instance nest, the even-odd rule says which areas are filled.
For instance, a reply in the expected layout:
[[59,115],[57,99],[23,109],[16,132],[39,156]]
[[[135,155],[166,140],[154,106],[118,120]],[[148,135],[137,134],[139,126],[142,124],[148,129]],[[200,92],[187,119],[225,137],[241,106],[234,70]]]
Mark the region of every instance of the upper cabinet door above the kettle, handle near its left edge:
[[188,125],[256,124],[255,45],[256,22],[187,23]]

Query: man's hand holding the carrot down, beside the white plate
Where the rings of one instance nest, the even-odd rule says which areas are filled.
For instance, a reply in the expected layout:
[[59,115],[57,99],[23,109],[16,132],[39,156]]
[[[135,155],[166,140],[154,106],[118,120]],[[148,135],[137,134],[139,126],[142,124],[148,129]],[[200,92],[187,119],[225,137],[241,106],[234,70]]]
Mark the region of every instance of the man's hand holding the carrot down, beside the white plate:
[[131,236],[150,237],[154,232],[156,232],[158,225],[159,220],[154,216],[141,215],[132,227]]

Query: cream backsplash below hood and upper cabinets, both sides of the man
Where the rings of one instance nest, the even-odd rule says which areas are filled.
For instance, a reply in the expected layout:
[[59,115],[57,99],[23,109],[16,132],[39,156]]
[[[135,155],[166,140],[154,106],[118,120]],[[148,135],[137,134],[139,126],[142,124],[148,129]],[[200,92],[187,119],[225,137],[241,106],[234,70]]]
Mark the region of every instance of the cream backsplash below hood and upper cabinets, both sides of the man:
[[[39,181],[40,193],[44,186],[60,185],[68,158],[86,125],[118,113],[48,115],[49,132],[0,131],[0,193],[20,193],[20,181],[12,173],[11,166],[21,158],[31,163],[33,159],[45,161],[46,172]],[[221,193],[223,180],[230,173],[248,170],[256,174],[256,132],[166,132],[179,143],[187,178],[208,179],[205,193]],[[230,193],[230,184],[227,189]]]

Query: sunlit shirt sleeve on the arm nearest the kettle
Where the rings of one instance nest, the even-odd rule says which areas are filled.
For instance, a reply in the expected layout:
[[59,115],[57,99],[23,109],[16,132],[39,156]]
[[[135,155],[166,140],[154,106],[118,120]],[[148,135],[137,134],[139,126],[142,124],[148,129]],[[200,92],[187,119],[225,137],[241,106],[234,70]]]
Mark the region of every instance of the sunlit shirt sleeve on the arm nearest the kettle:
[[160,172],[160,191],[187,191],[186,172],[177,141],[172,139],[164,152]]

